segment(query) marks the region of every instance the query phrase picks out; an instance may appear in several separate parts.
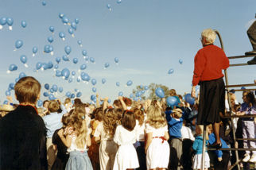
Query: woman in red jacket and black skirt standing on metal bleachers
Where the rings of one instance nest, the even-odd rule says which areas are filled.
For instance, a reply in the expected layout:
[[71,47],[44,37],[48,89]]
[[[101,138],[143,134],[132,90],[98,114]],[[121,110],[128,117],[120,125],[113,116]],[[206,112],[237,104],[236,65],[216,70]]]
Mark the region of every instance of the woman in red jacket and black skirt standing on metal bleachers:
[[225,84],[223,69],[229,67],[229,60],[223,50],[213,43],[215,31],[204,29],[201,33],[201,48],[195,56],[194,75],[192,80],[192,97],[196,97],[196,85],[200,85],[200,105],[198,110],[198,125],[212,124],[216,141],[213,146],[221,147],[219,138],[219,114],[225,111]]

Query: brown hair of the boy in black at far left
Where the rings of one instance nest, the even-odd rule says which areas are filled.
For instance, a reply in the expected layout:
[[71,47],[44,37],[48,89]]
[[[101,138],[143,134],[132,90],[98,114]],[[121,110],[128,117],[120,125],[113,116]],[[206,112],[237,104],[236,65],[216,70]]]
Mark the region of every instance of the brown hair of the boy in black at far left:
[[17,101],[36,103],[41,91],[41,84],[33,77],[23,77],[14,86]]

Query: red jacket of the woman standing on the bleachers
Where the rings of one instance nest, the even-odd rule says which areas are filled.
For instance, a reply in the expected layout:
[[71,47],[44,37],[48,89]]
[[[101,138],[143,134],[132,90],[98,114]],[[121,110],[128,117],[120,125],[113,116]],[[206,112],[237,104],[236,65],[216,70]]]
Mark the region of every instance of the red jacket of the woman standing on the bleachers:
[[201,48],[195,56],[192,84],[223,77],[222,70],[229,67],[229,60],[223,50],[214,44]]

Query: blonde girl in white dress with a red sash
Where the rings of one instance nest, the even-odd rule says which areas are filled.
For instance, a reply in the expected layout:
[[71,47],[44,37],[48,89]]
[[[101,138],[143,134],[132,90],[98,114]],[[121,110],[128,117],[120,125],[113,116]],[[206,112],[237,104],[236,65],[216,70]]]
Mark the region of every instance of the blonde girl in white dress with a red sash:
[[159,106],[149,106],[145,124],[147,169],[168,168],[170,148],[168,126]]

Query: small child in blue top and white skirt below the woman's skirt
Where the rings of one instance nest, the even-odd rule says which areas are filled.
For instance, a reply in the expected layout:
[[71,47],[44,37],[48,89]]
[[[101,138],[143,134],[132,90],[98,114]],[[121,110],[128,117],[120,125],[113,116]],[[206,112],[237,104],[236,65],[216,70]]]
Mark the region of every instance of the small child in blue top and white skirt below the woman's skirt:
[[[204,126],[197,125],[196,126],[196,139],[192,145],[192,149],[196,151],[196,155],[193,158],[193,169],[201,169],[202,164],[202,153],[203,153],[203,132],[204,132]],[[208,133],[206,133],[206,143],[204,145],[208,144]],[[204,169],[208,169],[210,167],[210,158],[208,155],[208,152],[205,151],[204,153]]]

